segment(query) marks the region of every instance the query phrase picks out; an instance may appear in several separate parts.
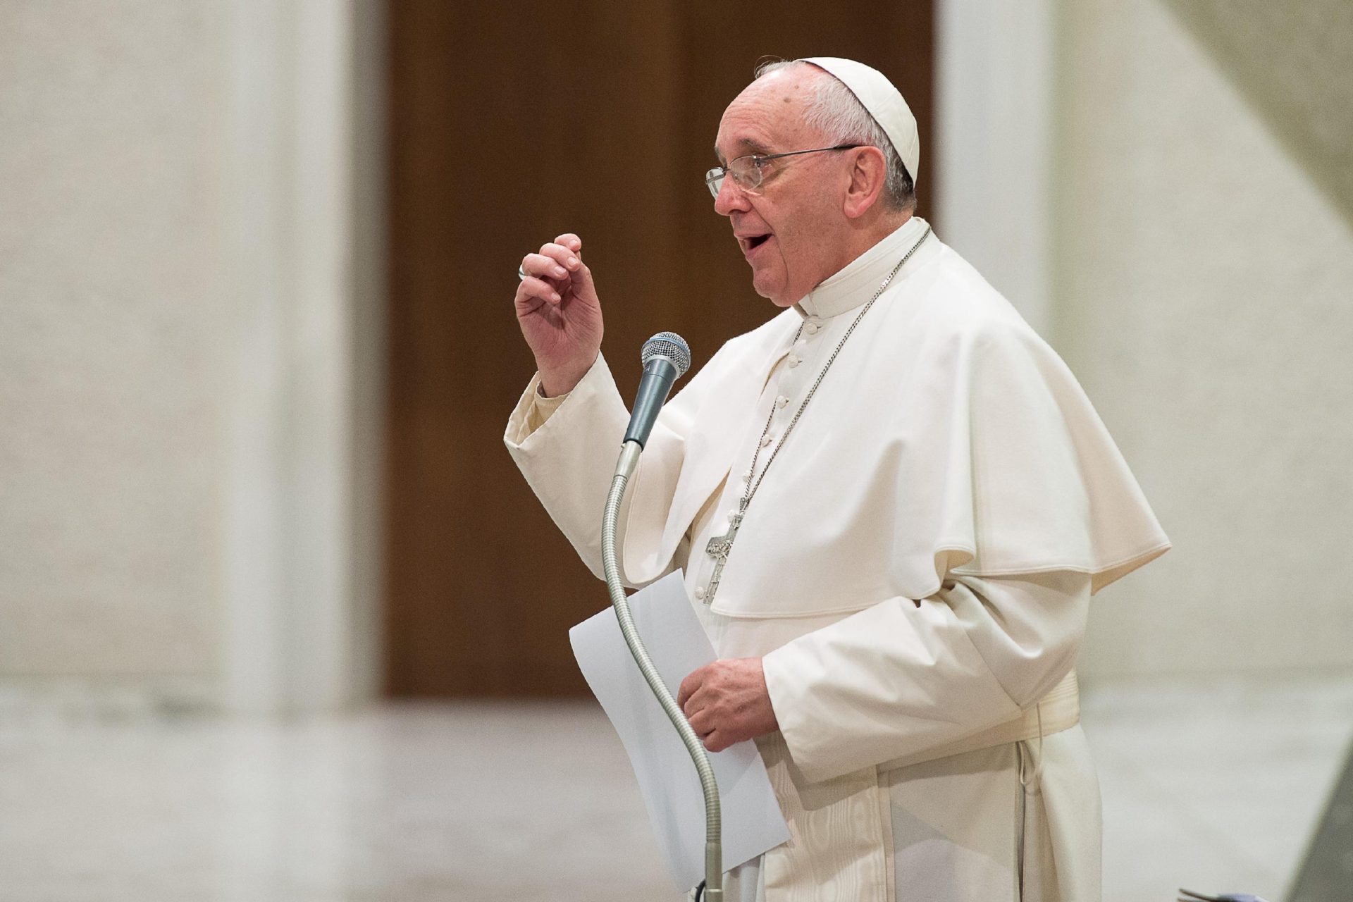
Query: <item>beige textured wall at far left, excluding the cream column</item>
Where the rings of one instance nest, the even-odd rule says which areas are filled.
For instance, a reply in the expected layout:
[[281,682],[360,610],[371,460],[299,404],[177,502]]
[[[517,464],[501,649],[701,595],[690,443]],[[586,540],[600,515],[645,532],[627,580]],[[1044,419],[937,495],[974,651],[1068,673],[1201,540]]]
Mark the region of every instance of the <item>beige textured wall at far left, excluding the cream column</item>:
[[226,30],[221,4],[111,5],[0,7],[0,673],[200,690]]

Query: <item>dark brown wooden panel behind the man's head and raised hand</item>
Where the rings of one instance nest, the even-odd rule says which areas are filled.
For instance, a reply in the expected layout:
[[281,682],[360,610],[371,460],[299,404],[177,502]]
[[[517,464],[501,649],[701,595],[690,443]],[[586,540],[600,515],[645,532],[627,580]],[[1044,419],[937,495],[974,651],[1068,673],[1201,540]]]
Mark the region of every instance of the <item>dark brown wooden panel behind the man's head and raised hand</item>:
[[656,331],[698,366],[777,312],[701,181],[724,107],[763,54],[874,65],[920,122],[928,215],[932,3],[388,4],[390,695],[586,691],[567,630],[605,587],[502,446],[534,369],[521,256],[583,238],[625,398]]

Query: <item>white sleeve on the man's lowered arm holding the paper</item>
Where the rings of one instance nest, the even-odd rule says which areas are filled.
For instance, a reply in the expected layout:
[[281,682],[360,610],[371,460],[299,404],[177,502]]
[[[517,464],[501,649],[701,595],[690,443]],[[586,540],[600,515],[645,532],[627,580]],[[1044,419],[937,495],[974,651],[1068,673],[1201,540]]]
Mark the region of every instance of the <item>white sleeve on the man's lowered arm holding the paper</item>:
[[1013,719],[1076,661],[1091,576],[953,576],[762,659],[794,763],[824,780]]

